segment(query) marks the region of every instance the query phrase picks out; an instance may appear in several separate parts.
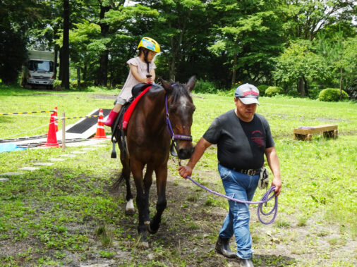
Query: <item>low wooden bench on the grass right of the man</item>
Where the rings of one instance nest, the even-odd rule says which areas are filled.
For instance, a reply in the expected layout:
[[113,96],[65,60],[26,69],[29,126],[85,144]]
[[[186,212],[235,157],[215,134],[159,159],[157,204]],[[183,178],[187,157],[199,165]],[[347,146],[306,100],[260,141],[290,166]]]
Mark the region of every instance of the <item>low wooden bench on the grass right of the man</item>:
[[303,126],[294,129],[294,139],[311,141],[311,137],[316,133],[323,133],[324,137],[337,138],[339,131],[337,125]]

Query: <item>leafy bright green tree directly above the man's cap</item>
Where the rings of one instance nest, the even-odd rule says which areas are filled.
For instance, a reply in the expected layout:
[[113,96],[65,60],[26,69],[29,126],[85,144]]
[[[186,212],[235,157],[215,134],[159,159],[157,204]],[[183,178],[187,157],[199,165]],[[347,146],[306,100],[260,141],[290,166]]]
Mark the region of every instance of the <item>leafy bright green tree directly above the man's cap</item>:
[[210,50],[226,51],[231,66],[231,84],[260,83],[271,79],[272,59],[282,51],[282,28],[274,13],[276,1],[212,1],[219,14],[216,37]]

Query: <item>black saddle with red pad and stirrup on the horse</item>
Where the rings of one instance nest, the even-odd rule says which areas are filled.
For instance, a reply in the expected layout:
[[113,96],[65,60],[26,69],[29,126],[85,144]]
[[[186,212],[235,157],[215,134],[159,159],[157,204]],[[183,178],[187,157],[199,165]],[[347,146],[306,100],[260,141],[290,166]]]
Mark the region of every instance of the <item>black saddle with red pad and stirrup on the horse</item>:
[[[123,151],[121,153],[121,159],[125,159],[126,154],[128,153],[128,148],[126,146],[126,135],[124,130],[126,129],[126,126],[128,125],[128,121],[130,119],[131,113],[133,113],[134,108],[136,104],[138,103],[138,100],[136,99],[147,87],[156,87],[156,88],[161,88],[159,85],[152,85],[152,84],[147,84],[147,83],[139,83],[138,85],[135,85],[133,89],[131,89],[131,94],[133,97],[129,99],[126,104],[123,105],[121,108],[121,111],[119,112],[118,116],[116,117],[116,120],[114,121],[114,124],[111,128],[111,142],[113,143],[113,150],[111,151],[111,158],[116,159],[116,151],[115,151],[115,143],[119,142],[119,140],[116,140],[115,135],[116,131],[119,131],[119,139],[123,148]],[[136,99],[136,101],[135,101]],[[127,112],[128,111],[128,112]]]

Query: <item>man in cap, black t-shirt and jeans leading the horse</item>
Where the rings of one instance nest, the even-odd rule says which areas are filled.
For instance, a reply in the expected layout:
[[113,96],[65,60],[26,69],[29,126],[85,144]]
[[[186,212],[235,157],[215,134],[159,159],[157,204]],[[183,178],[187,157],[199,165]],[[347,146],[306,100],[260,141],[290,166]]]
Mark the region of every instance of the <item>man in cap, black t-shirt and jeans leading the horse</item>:
[[[279,160],[267,120],[255,113],[259,90],[254,85],[241,85],[234,93],[234,110],[214,119],[210,128],[195,146],[186,166],[178,172],[183,178],[192,175],[193,168],[211,144],[217,144],[218,170],[226,195],[251,201],[260,178],[264,155],[272,170],[272,186],[278,196],[282,190]],[[249,232],[248,204],[229,200],[229,212],[224,219],[215,250],[228,258],[238,258],[243,266],[253,266],[252,237]],[[237,253],[231,252],[229,240],[235,235]]]

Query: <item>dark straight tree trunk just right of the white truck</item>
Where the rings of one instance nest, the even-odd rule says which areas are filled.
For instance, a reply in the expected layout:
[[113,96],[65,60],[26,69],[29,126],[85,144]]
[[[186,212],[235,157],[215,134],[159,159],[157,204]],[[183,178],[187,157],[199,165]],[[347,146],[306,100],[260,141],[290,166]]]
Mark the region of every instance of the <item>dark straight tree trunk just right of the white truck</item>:
[[69,89],[69,0],[63,0],[63,46],[62,46],[62,83]]

